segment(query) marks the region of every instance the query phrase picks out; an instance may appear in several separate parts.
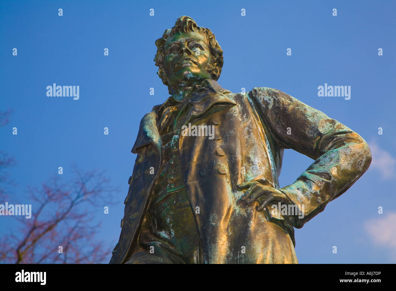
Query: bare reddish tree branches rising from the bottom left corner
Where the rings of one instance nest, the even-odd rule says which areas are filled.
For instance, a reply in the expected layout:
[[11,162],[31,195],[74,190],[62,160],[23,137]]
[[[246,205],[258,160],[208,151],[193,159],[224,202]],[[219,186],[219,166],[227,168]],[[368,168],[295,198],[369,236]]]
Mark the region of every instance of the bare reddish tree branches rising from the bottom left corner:
[[21,235],[0,238],[0,262],[103,262],[110,250],[93,243],[99,224],[91,225],[91,218],[99,206],[113,204],[118,190],[109,186],[104,172],[84,172],[76,166],[73,172],[71,183],[59,186],[59,178],[53,178],[40,189],[28,188],[27,198],[36,210],[31,219],[20,221]]

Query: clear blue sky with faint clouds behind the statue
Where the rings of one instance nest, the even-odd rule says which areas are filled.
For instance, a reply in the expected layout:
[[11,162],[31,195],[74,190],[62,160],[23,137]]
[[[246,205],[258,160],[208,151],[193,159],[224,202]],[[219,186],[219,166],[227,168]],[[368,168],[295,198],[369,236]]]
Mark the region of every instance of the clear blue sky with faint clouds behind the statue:
[[[118,204],[109,214],[98,208],[93,219],[102,223],[98,239],[114,247],[140,119],[169,97],[156,75],[154,41],[188,15],[211,29],[224,51],[222,87],[280,89],[371,147],[373,162],[362,178],[296,230],[299,262],[396,262],[395,12],[394,1],[0,1],[0,108],[14,110],[0,128],[0,149],[17,161],[8,171],[17,183],[9,203],[21,203],[28,185],[57,175],[59,166],[65,181],[73,163],[106,169],[121,189]],[[80,99],[47,97],[53,83],[80,86]],[[350,100],[318,97],[325,83],[351,86]],[[285,150],[280,186],[312,162]],[[0,235],[10,225],[0,218]]]

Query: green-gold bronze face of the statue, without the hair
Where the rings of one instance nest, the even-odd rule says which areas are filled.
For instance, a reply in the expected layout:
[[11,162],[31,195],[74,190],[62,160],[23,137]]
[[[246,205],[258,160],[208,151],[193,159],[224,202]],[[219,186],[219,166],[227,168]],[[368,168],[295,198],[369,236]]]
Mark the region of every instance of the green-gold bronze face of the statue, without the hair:
[[164,68],[171,87],[176,84],[200,83],[210,79],[211,53],[206,38],[196,32],[178,33],[165,45]]

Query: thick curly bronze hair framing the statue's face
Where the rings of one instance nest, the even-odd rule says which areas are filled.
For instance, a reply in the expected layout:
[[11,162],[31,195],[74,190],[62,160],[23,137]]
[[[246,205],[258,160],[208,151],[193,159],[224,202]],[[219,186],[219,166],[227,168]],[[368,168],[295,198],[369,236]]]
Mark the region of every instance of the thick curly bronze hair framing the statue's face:
[[208,28],[199,27],[191,17],[181,16],[176,20],[175,26],[172,27],[172,29],[166,29],[164,34],[162,34],[162,38],[158,38],[158,40],[155,41],[157,53],[154,57],[154,62],[158,67],[157,74],[162,79],[162,83],[168,86],[169,94],[171,91],[164,69],[166,40],[169,36],[174,36],[176,33],[186,32],[197,32],[206,37],[211,53],[211,62],[208,67],[208,72],[211,74],[213,80],[217,81],[217,79],[219,79],[221,68],[223,67],[223,50],[217,42],[213,32]]

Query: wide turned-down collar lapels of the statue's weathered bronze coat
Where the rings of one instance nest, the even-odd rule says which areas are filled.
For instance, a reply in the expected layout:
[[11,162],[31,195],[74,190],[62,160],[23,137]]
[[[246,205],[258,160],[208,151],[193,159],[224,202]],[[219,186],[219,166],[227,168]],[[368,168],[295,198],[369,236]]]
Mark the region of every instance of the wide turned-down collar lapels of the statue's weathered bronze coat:
[[[229,95],[231,91],[222,88],[215,80],[206,79],[195,89],[196,92],[191,93],[187,99],[192,107],[188,113],[186,124],[194,118],[213,114],[236,105],[234,99]],[[163,110],[175,102],[177,101],[171,96],[162,105],[154,106],[152,112],[147,113],[142,118],[139,133],[131,152],[136,154],[138,148],[149,144],[154,145],[160,153],[162,152],[162,142],[157,126],[158,119],[160,119]]]

